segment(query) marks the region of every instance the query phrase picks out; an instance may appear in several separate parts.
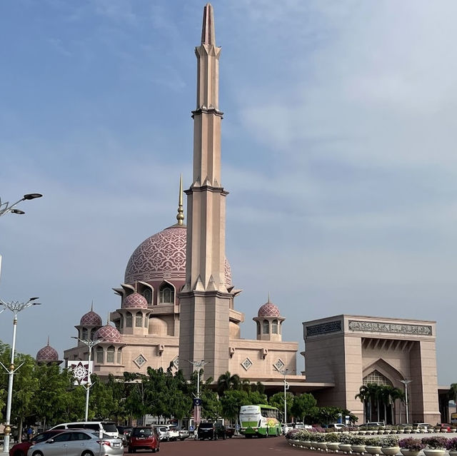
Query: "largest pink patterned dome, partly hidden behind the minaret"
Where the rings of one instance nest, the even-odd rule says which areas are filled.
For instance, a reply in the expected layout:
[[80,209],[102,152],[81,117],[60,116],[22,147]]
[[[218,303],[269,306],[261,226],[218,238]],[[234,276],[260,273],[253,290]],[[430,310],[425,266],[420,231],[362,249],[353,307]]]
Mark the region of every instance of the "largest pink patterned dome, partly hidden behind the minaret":
[[[125,283],[154,280],[186,280],[187,228],[174,225],[144,240],[127,263]],[[231,286],[231,269],[225,260],[226,286]]]

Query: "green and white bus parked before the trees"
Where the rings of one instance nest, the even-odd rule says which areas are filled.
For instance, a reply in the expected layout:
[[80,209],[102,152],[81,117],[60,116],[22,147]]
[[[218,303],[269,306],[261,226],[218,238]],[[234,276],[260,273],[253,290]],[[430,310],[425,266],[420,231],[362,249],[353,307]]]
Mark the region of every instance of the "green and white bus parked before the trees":
[[281,435],[279,410],[271,405],[241,405],[239,420],[240,432],[246,438]]

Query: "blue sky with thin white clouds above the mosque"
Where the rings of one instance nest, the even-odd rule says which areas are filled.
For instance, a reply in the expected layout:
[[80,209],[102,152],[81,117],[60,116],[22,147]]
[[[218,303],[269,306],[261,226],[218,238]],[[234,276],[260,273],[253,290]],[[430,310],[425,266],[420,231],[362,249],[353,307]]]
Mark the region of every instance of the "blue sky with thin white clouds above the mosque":
[[[438,381],[457,381],[457,4],[214,1],[226,253],[254,338],[268,293],[301,322],[436,320]],[[17,348],[63,354],[89,310],[119,306],[131,253],[175,222],[191,180],[200,1],[0,4],[0,297]],[[11,343],[11,315],[0,315]],[[303,359],[298,357],[298,369]]]

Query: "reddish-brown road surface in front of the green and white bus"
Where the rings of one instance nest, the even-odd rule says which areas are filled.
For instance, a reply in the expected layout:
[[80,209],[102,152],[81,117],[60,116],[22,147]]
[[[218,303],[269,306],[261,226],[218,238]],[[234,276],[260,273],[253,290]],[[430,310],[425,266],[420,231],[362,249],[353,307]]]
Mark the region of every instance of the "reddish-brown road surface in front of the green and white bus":
[[[183,442],[161,442],[161,456],[316,456],[316,452],[298,450],[288,445],[284,437],[252,438],[233,437],[226,440],[184,440]],[[135,455],[148,454],[139,450]],[[124,455],[133,455],[125,452]]]

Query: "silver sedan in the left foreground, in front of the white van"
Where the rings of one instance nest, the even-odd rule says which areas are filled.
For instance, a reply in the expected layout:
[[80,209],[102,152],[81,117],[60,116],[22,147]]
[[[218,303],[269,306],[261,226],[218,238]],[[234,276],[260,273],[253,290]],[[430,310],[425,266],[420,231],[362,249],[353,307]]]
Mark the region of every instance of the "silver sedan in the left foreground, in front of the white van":
[[92,430],[66,430],[48,440],[31,445],[27,456],[122,456],[124,445],[119,438],[112,438]]

